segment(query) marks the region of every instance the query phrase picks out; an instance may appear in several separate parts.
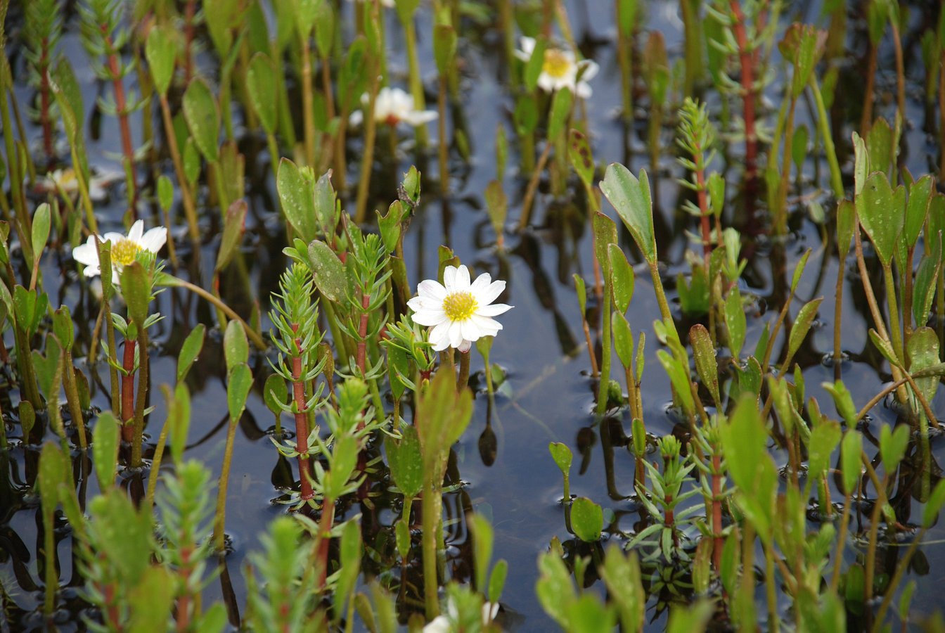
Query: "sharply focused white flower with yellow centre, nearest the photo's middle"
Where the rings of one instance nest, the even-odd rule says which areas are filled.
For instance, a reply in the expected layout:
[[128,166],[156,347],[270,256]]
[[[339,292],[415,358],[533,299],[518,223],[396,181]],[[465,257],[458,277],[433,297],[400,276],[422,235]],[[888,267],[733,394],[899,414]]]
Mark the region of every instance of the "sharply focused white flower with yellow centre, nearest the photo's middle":
[[502,324],[492,318],[512,306],[492,304],[506,282],[493,282],[489,273],[483,273],[470,283],[470,271],[465,265],[448,265],[443,270],[443,283],[428,279],[417,286],[417,297],[407,301],[414,311],[414,322],[431,328],[430,342],[435,351],[449,347],[469,351],[473,341],[481,336],[494,336]]

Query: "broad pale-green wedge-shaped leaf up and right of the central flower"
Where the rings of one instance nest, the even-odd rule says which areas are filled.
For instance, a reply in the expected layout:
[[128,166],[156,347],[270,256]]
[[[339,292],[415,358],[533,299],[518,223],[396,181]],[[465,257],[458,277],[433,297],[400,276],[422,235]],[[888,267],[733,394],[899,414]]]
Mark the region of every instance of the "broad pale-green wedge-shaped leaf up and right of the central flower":
[[600,190],[627,225],[646,262],[655,265],[657,253],[653,208],[645,170],[640,170],[640,178],[637,179],[624,165],[610,163],[600,183]]

